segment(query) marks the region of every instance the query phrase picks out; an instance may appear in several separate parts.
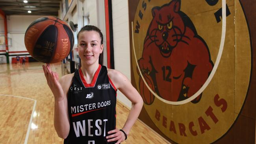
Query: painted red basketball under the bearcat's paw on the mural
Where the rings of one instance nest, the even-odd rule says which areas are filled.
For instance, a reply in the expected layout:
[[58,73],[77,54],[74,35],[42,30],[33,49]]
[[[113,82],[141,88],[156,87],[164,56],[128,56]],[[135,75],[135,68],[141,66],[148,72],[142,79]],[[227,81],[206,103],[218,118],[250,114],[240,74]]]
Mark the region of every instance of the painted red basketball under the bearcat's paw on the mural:
[[[147,82],[148,86],[150,87],[150,89],[152,89],[154,91],[154,84],[153,84],[151,77],[148,76],[147,74],[143,74],[143,77],[144,77],[145,81]],[[155,96],[147,88],[147,86],[145,85],[141,76],[139,77],[139,91],[141,93],[141,97],[142,97],[144,103],[146,103],[147,105],[150,105],[154,102]]]

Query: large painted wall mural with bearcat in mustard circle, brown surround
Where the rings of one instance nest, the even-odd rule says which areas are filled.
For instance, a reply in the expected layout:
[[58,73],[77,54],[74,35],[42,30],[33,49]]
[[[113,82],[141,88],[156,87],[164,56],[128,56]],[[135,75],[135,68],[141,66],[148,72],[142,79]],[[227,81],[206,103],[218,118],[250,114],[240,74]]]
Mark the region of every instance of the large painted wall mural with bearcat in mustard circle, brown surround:
[[255,142],[255,2],[129,1],[140,120],[171,143]]

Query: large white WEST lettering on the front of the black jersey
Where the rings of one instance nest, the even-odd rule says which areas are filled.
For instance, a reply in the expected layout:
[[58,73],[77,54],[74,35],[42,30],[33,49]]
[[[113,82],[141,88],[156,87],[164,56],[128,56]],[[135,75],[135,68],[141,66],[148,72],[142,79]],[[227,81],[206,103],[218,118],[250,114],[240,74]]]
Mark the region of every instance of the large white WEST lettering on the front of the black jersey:
[[[82,136],[89,136],[89,137],[93,137],[95,136],[100,136],[102,135],[102,129],[104,130],[103,136],[106,136],[106,122],[108,121],[108,119],[104,119],[104,120],[95,120],[95,122],[93,122],[92,119],[86,120],[87,122],[85,122],[85,120],[82,121],[78,121],[78,122],[73,122],[73,128],[74,131],[76,133],[76,137],[80,137],[80,132],[82,133]],[[81,123],[82,122],[82,123]],[[92,130],[94,129],[93,126],[96,127],[95,131],[92,132]],[[86,133],[87,130],[87,133]]]

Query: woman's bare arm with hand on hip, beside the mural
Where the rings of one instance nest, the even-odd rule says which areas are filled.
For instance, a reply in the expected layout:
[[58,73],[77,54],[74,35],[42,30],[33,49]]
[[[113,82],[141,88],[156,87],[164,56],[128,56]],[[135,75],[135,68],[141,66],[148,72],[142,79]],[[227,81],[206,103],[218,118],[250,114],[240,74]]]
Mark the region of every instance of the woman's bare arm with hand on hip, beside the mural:
[[[114,83],[115,87],[119,89],[132,102],[132,108],[130,110],[130,113],[124,126],[122,127],[122,130],[126,133],[126,135],[128,135],[130,133],[130,130],[132,129],[132,126],[137,120],[139,113],[141,112],[143,100],[139,92],[132,86],[132,83],[121,72],[109,69],[108,76]],[[113,135],[107,137],[107,139],[112,138],[109,139],[110,141],[118,140],[117,144],[124,141],[125,137],[122,131],[114,129],[112,131],[109,131],[108,133],[114,133]]]

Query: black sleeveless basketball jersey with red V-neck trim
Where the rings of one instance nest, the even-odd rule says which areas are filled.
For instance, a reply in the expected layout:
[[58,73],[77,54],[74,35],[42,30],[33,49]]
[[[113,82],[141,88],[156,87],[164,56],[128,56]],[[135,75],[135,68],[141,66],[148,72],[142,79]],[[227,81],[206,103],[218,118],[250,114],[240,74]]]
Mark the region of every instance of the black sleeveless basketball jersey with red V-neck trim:
[[64,144],[113,143],[106,136],[116,125],[116,94],[106,66],[99,65],[91,84],[76,70],[67,98],[70,131]]

